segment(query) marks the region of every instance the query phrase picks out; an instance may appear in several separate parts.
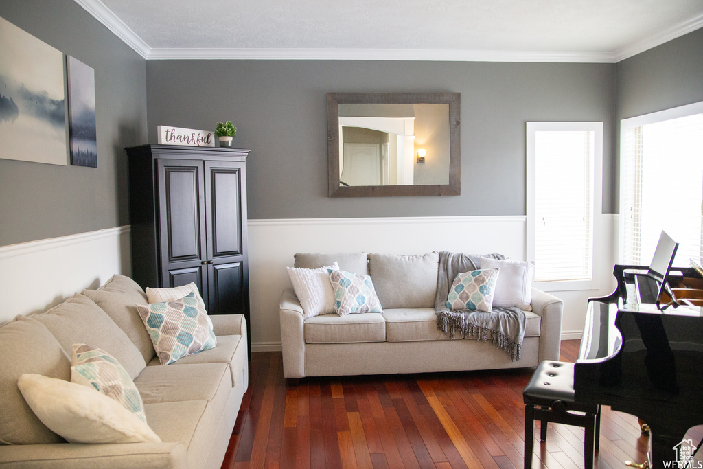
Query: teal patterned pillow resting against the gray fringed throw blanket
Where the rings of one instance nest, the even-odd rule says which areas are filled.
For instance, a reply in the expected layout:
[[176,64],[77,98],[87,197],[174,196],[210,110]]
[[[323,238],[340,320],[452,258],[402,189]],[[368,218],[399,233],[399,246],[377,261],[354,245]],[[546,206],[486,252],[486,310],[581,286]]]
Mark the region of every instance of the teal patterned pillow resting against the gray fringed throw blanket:
[[454,311],[493,310],[498,269],[482,269],[458,274],[454,278],[445,306]]

